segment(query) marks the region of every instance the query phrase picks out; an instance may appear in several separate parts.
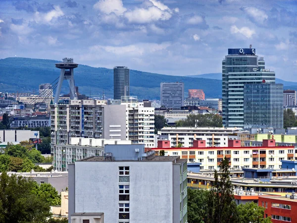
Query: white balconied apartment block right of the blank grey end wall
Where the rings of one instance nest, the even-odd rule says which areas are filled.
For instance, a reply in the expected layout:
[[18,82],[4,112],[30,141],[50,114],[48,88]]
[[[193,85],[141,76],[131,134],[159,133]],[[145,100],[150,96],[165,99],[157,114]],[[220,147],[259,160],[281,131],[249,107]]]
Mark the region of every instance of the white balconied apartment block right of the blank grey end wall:
[[121,103],[126,106],[126,138],[132,144],[154,147],[154,108],[145,102]]

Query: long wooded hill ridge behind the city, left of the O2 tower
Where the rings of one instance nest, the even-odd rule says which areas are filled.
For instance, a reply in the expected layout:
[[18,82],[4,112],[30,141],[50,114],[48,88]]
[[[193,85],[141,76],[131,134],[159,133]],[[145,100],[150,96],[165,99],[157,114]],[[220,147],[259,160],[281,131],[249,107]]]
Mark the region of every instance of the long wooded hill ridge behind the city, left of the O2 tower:
[[[0,92],[38,92],[42,83],[52,83],[60,74],[55,67],[57,60],[8,57],[0,59]],[[75,60],[74,60],[75,62]],[[92,97],[113,97],[113,69],[79,65],[74,70],[75,85],[79,92]],[[160,99],[161,82],[185,84],[185,97],[188,89],[203,89],[207,98],[222,95],[222,81],[207,78],[170,76],[130,69],[130,95],[141,99]],[[66,81],[62,93],[69,93]]]

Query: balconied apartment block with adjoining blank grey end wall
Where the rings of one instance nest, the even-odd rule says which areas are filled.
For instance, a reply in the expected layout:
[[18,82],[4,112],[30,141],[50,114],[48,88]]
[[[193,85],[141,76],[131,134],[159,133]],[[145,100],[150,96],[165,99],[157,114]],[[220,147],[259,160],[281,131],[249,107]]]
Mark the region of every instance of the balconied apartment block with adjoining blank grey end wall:
[[71,137],[126,139],[126,106],[99,100],[71,100],[50,105],[51,153],[53,145],[66,145]]

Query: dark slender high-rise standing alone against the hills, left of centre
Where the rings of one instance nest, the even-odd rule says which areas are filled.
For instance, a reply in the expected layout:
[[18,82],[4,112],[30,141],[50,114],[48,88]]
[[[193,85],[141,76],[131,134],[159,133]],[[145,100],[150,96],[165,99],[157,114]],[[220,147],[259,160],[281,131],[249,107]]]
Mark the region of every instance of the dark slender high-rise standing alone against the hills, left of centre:
[[126,66],[113,67],[113,99],[130,95],[130,70]]

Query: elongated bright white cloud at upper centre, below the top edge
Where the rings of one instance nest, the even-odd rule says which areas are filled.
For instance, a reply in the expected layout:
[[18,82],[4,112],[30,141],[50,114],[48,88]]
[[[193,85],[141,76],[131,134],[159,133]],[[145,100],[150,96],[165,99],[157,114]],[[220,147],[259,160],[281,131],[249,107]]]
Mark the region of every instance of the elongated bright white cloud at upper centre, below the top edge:
[[172,15],[168,10],[163,11],[158,7],[151,6],[127,11],[124,16],[131,23],[149,23],[157,20],[168,20]]

